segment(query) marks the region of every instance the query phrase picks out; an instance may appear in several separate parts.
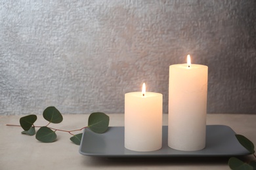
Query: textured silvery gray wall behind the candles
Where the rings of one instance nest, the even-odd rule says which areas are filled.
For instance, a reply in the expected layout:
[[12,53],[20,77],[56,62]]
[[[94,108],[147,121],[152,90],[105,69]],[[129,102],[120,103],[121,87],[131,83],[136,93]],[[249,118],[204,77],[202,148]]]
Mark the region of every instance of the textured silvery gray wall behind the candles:
[[163,93],[169,65],[208,65],[208,112],[256,113],[256,3],[0,3],[0,114],[123,112],[124,94]]

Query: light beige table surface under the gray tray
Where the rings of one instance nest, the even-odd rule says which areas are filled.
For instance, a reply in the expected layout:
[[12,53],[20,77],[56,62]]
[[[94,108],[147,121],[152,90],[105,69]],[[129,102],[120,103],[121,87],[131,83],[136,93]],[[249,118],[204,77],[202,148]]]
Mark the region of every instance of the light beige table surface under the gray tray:
[[[25,116],[25,115],[24,115]],[[123,126],[124,114],[108,114],[110,126]],[[70,141],[69,133],[57,131],[57,141],[41,143],[35,136],[22,135],[21,116],[0,116],[0,169],[229,169],[228,158],[133,158],[106,159],[83,156],[79,146]],[[63,114],[63,122],[50,124],[58,129],[79,129],[87,126],[89,114]],[[35,126],[45,126],[47,121],[37,115]],[[256,144],[256,114],[207,114],[207,124],[230,126],[236,133],[245,135]],[[163,114],[167,125],[167,114]],[[80,132],[77,132],[80,133]],[[246,156],[244,159],[253,159]]]

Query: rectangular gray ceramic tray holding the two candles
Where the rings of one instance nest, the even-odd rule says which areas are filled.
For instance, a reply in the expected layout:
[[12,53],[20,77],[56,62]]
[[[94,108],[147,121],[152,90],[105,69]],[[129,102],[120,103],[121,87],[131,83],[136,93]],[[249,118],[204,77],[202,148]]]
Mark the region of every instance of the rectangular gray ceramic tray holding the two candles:
[[243,156],[250,154],[235,137],[235,132],[228,126],[206,126],[206,146],[198,151],[180,151],[169,148],[167,144],[167,126],[163,126],[163,145],[153,152],[136,152],[124,147],[124,127],[109,127],[103,134],[83,131],[79,153],[86,156],[106,158],[135,157],[220,157]]

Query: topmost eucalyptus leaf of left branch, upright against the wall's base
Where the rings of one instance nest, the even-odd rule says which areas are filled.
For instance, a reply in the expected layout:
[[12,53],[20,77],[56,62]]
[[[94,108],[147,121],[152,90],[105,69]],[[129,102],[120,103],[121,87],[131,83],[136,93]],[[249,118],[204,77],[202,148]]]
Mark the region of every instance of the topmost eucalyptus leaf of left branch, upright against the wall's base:
[[43,111],[43,118],[53,124],[59,124],[63,120],[62,114],[55,107],[47,107]]

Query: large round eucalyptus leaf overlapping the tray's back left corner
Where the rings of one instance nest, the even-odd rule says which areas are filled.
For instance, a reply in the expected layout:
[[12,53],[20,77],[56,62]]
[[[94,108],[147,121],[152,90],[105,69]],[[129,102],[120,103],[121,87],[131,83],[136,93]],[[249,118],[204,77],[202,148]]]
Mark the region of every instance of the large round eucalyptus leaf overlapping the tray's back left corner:
[[108,129],[110,117],[103,112],[93,112],[88,119],[88,127],[95,133],[104,133]]

